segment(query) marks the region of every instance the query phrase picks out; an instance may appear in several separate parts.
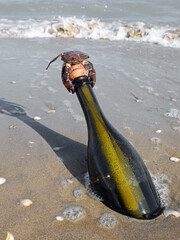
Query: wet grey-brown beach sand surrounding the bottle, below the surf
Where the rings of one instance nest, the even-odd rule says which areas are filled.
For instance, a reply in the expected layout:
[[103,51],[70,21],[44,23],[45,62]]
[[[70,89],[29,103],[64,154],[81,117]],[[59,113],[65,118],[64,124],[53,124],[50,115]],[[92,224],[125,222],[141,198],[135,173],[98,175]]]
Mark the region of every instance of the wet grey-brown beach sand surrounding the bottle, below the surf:
[[[61,51],[72,50],[72,44],[74,50],[90,54],[97,71],[94,91],[103,112],[159,176],[167,209],[178,210],[180,163],[169,158],[180,158],[180,57],[176,49],[150,44],[88,40],[85,49],[81,41],[0,39],[0,177],[6,178],[0,185],[0,239],[10,232],[15,240],[178,240],[180,218],[162,214],[136,220],[89,196],[82,110],[76,95],[68,94],[61,83],[61,61],[48,72],[44,69]],[[77,189],[83,191],[82,198],[75,198]],[[19,204],[26,198],[33,202],[29,207]],[[82,219],[56,220],[73,205],[84,209]],[[116,217],[113,228],[100,225],[104,213]]]

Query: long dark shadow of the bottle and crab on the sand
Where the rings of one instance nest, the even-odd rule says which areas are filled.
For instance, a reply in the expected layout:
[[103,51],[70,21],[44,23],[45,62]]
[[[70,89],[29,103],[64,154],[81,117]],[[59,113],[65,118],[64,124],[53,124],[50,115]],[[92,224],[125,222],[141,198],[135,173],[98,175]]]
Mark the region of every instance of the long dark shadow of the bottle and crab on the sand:
[[[69,172],[84,184],[84,173],[88,171],[86,145],[65,137],[35,121],[26,114],[24,107],[19,104],[0,99],[0,113],[16,117],[34,129],[62,159]],[[59,150],[57,146],[60,147]]]

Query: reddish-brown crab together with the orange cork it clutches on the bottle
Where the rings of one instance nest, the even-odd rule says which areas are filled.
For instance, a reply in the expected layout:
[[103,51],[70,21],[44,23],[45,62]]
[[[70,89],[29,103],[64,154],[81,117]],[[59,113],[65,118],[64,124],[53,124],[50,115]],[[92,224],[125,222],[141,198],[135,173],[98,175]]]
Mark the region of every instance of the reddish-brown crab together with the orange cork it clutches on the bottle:
[[96,72],[93,64],[86,60],[89,58],[87,54],[80,51],[61,53],[49,62],[46,70],[49,68],[50,64],[59,57],[61,57],[61,60],[64,62],[61,75],[62,81],[69,92],[75,92],[73,80],[83,76],[87,76],[91,86],[94,87],[96,82]]

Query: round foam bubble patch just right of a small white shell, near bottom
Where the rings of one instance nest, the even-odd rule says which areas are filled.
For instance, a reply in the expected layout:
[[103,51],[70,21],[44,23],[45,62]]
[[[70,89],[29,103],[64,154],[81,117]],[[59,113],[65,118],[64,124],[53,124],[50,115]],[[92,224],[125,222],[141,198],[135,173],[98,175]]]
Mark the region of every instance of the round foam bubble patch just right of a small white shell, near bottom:
[[77,221],[85,216],[85,211],[80,206],[69,206],[62,210],[62,214],[68,220]]

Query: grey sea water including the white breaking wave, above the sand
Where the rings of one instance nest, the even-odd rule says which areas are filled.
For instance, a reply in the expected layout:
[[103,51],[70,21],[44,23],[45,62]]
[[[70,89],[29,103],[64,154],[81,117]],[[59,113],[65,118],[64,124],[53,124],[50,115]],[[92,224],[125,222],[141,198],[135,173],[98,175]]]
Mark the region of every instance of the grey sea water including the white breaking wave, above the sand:
[[0,38],[130,40],[180,47],[178,0],[1,0]]

